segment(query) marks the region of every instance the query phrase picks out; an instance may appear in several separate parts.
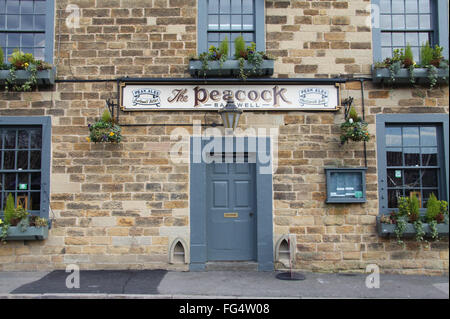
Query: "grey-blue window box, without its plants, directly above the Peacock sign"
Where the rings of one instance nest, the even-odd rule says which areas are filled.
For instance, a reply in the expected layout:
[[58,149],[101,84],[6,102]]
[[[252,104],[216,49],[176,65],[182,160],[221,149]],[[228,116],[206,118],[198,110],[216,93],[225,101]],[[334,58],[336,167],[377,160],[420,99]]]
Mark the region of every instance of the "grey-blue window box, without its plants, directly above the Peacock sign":
[[[251,77],[262,77],[273,75],[274,60],[263,60],[261,67],[256,70]],[[244,71],[246,73],[253,70],[254,66],[248,61],[244,62]],[[208,61],[208,69],[203,70],[202,61],[189,61],[189,74],[192,77],[239,77],[240,68],[238,60],[227,60],[220,65],[220,61]]]

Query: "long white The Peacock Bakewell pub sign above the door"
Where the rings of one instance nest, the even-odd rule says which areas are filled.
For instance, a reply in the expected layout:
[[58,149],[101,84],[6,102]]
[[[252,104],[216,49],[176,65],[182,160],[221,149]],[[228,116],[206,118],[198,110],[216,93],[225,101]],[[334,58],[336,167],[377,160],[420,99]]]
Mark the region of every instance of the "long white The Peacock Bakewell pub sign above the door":
[[336,111],[340,105],[339,87],[333,84],[122,82],[120,90],[124,111],[211,111],[230,98],[245,111]]

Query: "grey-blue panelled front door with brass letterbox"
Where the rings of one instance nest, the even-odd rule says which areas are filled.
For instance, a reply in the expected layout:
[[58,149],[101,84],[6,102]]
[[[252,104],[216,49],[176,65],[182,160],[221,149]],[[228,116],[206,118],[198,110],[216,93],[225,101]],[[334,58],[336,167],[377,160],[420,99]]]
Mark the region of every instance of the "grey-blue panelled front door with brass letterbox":
[[256,260],[255,164],[207,166],[208,260]]

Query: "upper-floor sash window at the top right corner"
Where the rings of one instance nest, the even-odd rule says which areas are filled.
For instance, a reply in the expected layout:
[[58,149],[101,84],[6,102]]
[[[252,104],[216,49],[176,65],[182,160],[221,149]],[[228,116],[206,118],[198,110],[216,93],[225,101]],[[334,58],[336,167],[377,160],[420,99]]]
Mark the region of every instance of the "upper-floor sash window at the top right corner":
[[372,4],[378,5],[374,12],[379,13],[373,28],[375,62],[392,57],[394,49],[407,44],[414,60],[420,61],[420,47],[426,42],[444,46],[448,57],[447,1],[372,0]]

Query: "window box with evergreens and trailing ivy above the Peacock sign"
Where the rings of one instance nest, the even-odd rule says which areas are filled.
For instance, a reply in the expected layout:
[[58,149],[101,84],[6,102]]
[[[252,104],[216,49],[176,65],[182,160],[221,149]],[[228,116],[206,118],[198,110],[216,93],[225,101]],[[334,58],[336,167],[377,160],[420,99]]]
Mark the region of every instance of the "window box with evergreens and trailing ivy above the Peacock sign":
[[211,46],[208,52],[189,61],[192,77],[262,77],[273,75],[274,59],[256,51],[256,44],[245,45],[242,36],[235,40],[234,59],[228,59],[228,39],[219,47]]

